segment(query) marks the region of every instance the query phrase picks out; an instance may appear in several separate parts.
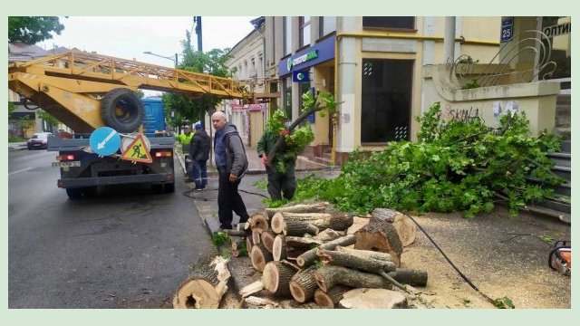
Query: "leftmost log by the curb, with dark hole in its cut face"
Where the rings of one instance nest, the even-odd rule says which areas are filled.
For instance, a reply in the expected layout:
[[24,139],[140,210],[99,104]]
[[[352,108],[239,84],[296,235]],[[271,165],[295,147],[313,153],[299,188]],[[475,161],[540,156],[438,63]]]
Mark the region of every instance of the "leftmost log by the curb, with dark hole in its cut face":
[[218,308],[231,276],[227,262],[221,256],[200,258],[175,292],[173,308]]

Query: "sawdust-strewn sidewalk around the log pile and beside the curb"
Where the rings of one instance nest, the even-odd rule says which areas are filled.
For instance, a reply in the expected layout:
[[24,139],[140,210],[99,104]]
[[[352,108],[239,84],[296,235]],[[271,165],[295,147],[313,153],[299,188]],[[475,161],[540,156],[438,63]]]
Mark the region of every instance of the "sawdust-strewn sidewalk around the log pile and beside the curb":
[[[268,196],[266,190],[256,187],[257,181],[266,181],[266,174],[261,174],[264,168],[259,166],[259,158],[253,153],[256,153],[255,149],[247,149],[254,174],[244,177],[239,186],[239,193],[250,215],[263,209],[262,199]],[[320,166],[308,161],[301,164],[301,167]],[[210,170],[214,172],[209,174],[206,190],[192,192],[191,196],[194,197],[199,216],[208,232],[213,234],[219,227],[218,178],[213,166]],[[297,172],[296,177],[311,173],[319,177],[334,177],[338,172],[337,168],[322,168]],[[189,185],[194,187],[193,184]],[[234,224],[238,218],[234,215]],[[523,212],[515,218],[509,217],[507,209],[502,206],[490,214],[473,219],[465,219],[460,214],[437,213],[417,216],[415,219],[449,259],[459,266],[461,272],[491,298],[506,296],[514,302],[516,308],[571,307],[571,278],[547,266],[553,242],[546,244],[539,239],[544,235],[552,237],[554,241],[570,240],[571,225]],[[226,245],[221,248],[222,251],[227,249]],[[418,289],[421,293],[420,302],[413,302],[417,307],[494,308],[459,277],[427,235],[419,229],[415,242],[404,248],[401,264],[403,268],[420,269],[429,274],[427,287]],[[232,290],[236,295],[239,289],[261,280],[262,273],[252,267],[247,256],[232,257],[228,266],[232,274]],[[305,307],[295,305],[292,300],[285,302],[290,302],[288,304],[292,308]]]

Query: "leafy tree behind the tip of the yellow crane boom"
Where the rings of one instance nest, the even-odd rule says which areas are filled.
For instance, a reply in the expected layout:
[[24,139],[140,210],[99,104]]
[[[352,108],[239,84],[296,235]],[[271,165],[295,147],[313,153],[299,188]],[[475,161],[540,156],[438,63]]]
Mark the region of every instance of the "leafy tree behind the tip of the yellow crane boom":
[[[194,51],[191,44],[191,34],[186,31],[186,39],[181,41],[183,46],[183,61],[179,63],[179,69],[189,72],[208,73],[213,76],[230,78],[236,72],[226,66],[229,58],[229,49],[213,49],[207,53]],[[163,94],[163,106],[165,116],[173,127],[181,126],[184,122],[204,120],[208,111],[214,110],[221,99],[217,95],[204,94],[192,98],[182,94]],[[175,111],[175,118],[171,119],[171,111]]]

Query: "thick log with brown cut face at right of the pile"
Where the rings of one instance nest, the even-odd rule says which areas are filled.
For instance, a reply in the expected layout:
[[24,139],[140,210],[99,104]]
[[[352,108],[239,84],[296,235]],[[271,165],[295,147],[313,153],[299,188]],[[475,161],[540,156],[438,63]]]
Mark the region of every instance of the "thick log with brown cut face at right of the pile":
[[391,254],[393,263],[401,266],[402,244],[397,230],[388,222],[375,222],[363,226],[354,233],[354,249],[380,251]]

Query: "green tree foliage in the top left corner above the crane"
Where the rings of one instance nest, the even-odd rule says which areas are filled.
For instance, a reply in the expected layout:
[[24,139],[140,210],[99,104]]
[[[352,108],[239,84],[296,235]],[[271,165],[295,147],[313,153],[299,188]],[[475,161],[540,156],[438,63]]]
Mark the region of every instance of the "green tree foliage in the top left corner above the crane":
[[8,43],[22,42],[34,44],[52,39],[53,34],[61,34],[64,25],[59,17],[54,16],[22,16],[8,17]]

